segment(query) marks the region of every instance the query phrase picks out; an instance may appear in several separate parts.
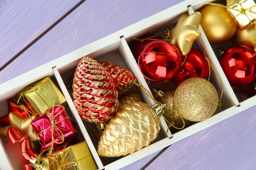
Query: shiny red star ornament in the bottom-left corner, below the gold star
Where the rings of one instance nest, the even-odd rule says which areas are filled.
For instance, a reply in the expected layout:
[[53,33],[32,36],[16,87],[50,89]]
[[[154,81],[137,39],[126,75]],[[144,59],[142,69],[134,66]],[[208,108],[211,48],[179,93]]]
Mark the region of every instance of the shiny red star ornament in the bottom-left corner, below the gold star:
[[35,156],[35,151],[31,147],[29,136],[22,136],[14,127],[10,127],[7,131],[7,139],[6,151],[15,170],[32,170],[29,160]]

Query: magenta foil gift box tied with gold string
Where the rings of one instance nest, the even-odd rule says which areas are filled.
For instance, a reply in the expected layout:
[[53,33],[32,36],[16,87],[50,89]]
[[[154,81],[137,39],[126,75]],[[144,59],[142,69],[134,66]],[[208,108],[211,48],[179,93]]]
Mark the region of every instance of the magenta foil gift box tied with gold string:
[[39,116],[31,122],[32,127],[41,139],[45,148],[68,142],[77,136],[72,119],[61,105],[54,105],[47,113]]

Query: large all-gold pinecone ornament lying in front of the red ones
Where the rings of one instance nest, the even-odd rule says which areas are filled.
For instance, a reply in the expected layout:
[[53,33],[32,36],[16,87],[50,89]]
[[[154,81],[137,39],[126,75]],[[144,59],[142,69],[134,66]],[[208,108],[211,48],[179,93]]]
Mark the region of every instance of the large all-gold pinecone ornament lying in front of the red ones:
[[148,146],[160,130],[160,118],[150,105],[136,102],[110,119],[99,139],[99,156],[125,156]]

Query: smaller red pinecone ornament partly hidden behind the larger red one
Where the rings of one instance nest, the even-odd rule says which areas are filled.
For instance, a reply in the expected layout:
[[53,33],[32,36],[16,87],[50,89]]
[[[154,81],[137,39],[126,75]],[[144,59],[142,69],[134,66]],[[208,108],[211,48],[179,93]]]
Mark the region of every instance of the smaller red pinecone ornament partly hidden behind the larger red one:
[[99,62],[108,71],[116,84],[116,90],[119,94],[124,94],[133,85],[130,80],[137,82],[137,77],[120,65],[111,62]]

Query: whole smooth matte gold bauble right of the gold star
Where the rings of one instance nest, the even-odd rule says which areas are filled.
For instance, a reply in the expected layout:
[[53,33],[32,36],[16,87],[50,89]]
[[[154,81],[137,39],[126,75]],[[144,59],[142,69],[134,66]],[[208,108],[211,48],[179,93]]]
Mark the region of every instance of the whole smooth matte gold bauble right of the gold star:
[[237,25],[226,8],[207,5],[200,12],[202,15],[201,26],[211,44],[221,44],[233,37]]

